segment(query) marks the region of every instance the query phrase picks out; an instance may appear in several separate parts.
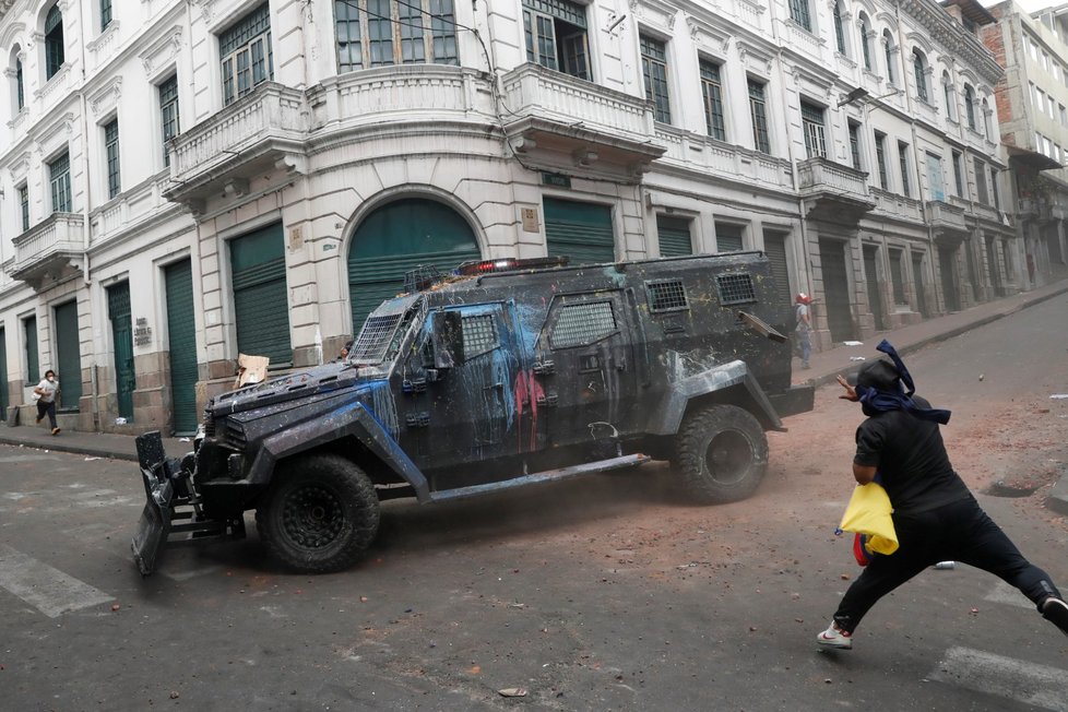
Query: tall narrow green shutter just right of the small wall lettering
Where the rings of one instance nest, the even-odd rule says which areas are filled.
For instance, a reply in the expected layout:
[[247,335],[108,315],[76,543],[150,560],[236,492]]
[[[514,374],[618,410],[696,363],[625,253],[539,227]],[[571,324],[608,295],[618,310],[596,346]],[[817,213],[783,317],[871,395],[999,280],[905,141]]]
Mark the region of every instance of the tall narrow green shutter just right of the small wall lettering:
[[167,342],[170,344],[170,404],[175,435],[197,431],[197,322],[193,319],[192,262],[164,269]]

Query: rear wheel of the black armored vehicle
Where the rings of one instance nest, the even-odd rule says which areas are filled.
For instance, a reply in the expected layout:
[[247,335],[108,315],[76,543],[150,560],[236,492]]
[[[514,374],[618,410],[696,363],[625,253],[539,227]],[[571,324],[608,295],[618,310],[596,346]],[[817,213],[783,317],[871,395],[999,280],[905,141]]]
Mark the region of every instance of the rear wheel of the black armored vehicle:
[[736,502],[752,495],[768,471],[768,437],[745,408],[710,405],[683,422],[672,463],[699,503]]

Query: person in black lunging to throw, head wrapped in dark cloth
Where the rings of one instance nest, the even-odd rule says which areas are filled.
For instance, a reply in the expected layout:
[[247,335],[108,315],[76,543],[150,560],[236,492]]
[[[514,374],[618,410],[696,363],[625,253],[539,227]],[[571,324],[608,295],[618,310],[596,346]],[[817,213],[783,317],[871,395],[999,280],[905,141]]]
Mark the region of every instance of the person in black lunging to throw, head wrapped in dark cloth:
[[853,476],[858,484],[878,482],[887,490],[900,546],[893,554],[873,558],[817,642],[853,648],[854,631],[879,598],[924,569],[949,560],[1000,577],[1068,636],[1068,604],[1049,574],[1020,554],[953,471],[938,428],[949,422],[949,411],[931,408],[914,395],[912,377],[889,342],[877,348],[890,360],[865,364],[855,385],[839,376],[845,389],[839,397],[859,402],[868,416],[856,429]]

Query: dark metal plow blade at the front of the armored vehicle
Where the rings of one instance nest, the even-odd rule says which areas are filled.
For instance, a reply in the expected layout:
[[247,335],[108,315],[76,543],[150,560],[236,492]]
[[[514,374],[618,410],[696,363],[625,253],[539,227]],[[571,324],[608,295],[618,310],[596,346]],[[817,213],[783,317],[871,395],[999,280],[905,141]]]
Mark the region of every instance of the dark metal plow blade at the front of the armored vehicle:
[[170,535],[175,486],[170,482],[159,432],[138,436],[137,443],[146,501],[131,546],[133,560],[137,561],[141,575],[149,575],[155,571],[159,551]]

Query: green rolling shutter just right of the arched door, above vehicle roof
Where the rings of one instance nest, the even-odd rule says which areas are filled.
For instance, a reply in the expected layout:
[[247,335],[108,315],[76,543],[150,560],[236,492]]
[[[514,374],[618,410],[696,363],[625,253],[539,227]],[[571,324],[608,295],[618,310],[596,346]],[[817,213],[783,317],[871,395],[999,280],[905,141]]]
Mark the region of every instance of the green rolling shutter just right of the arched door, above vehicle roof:
[[612,209],[546,198],[545,244],[550,257],[568,257],[570,264],[615,262]]

